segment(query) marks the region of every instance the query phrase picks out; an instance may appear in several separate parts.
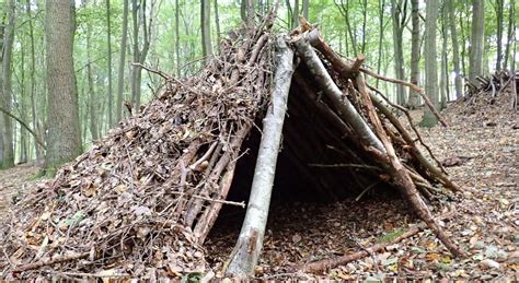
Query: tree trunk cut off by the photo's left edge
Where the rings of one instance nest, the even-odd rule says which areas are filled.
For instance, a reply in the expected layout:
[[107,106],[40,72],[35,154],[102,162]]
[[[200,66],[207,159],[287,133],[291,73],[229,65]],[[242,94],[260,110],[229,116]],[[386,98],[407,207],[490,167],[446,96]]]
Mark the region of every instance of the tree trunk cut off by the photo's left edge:
[[[15,5],[14,0],[8,0],[7,5],[7,19],[5,31],[3,34],[3,56],[2,56],[2,81],[3,81],[3,102],[2,106],[8,111],[12,108],[12,50],[14,39],[14,16]],[[3,156],[2,164],[0,167],[11,168],[14,166],[14,144],[13,144],[13,125],[11,117],[3,115],[2,127],[2,143],[3,143]]]

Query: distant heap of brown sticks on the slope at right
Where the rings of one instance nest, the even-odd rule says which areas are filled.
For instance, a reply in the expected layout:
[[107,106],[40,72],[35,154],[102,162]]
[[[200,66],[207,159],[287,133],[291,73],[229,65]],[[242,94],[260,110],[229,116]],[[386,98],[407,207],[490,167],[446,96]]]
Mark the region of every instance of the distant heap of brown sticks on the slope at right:
[[465,96],[461,101],[465,113],[476,113],[488,106],[499,107],[504,110],[517,110],[519,86],[519,72],[500,70],[489,76],[476,76],[477,86],[466,83]]

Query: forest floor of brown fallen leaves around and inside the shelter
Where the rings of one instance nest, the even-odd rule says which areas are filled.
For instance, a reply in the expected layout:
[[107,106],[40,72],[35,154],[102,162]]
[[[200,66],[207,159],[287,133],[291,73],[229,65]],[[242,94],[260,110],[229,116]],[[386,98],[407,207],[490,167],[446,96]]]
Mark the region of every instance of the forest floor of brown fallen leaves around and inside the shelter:
[[[443,114],[449,128],[422,129],[451,178],[464,188],[454,201],[440,201],[436,215],[469,256],[455,259],[425,229],[384,251],[327,270],[290,273],[293,267],[362,250],[401,235],[418,221],[400,199],[365,197],[331,204],[291,203],[274,208],[256,275],[262,279],[451,278],[519,280],[519,119],[517,113],[489,108],[462,115],[460,105]],[[413,111],[419,120],[420,110]],[[0,170],[0,217],[33,185],[36,165]],[[230,219],[232,216],[229,216]],[[238,216],[239,217],[239,216]],[[206,245],[219,270],[231,252],[240,221],[217,225]],[[217,272],[217,276],[220,276]]]

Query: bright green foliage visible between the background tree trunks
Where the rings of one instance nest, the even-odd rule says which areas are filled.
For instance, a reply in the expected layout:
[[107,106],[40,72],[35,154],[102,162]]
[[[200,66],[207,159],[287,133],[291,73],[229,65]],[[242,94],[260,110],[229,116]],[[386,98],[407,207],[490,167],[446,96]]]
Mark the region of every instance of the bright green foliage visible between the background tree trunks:
[[[212,0],[215,1],[215,0]],[[214,46],[218,46],[218,35],[216,34],[216,16],[214,2],[211,1],[211,28]],[[130,10],[131,10],[131,1]],[[176,2],[178,7],[176,7]],[[269,3],[273,1],[256,1],[256,3]],[[288,1],[293,5],[295,1]],[[300,3],[302,1],[299,1]],[[381,3],[384,2],[383,10]],[[27,125],[31,126],[38,134],[44,137],[45,117],[46,117],[46,58],[45,58],[45,1],[30,1],[31,13],[27,13],[27,1],[15,1],[16,3],[16,28],[13,50],[13,91],[14,91],[14,109],[16,116],[22,117]],[[149,8],[151,3],[155,4],[155,12],[151,14]],[[289,33],[291,15],[287,7],[287,1],[280,1],[280,10],[278,12],[278,21],[274,30],[278,33]],[[309,7],[309,22],[319,26],[326,42],[338,52],[351,57],[354,56],[354,46],[347,31],[346,17],[344,11],[347,11],[350,24],[351,35],[357,43],[356,48],[360,51],[364,46],[367,66],[376,69],[380,62],[381,73],[387,76],[394,76],[393,71],[393,38],[391,22],[391,1],[364,1],[358,0],[312,0]],[[89,0],[76,1],[76,37],[74,37],[74,69],[78,87],[78,105],[80,108],[80,119],[82,125],[83,141],[86,148],[91,144],[90,131],[88,130],[90,116],[89,105],[89,87],[86,79],[86,67],[90,66],[93,72],[94,90],[96,93],[96,115],[100,121],[99,131],[101,135],[109,129],[107,125],[108,109],[108,68],[112,70],[113,94],[116,92],[117,66],[119,63],[120,38],[123,26],[123,0],[111,0],[111,40],[112,40],[112,66],[108,67],[107,56],[107,23],[106,23],[106,0]],[[181,76],[187,76],[197,73],[203,68],[201,59],[201,40],[200,40],[200,7],[198,0],[171,0],[159,1],[148,0],[147,16],[152,17],[151,47],[146,66],[160,69],[176,75],[176,70],[181,69]],[[491,68],[494,67],[496,58],[497,43],[497,16],[495,1],[487,2],[485,5],[485,61]],[[507,36],[507,23],[510,13],[510,5],[516,5],[516,1],[505,0],[504,5],[504,40]],[[462,59],[468,68],[468,55],[471,37],[471,9],[470,1],[458,0],[455,7],[455,21],[458,23],[457,31],[460,46],[460,52],[463,52]],[[343,8],[343,9],[339,9]],[[4,13],[4,1],[0,1],[0,9]],[[344,10],[346,9],[346,10]],[[410,9],[410,5],[407,5]],[[293,7],[290,7],[290,11]],[[301,8],[300,8],[301,10]],[[257,7],[256,12],[263,14],[267,11],[265,7]],[[178,12],[178,26],[175,23],[175,14]],[[220,37],[226,38],[229,30],[237,30],[242,26],[240,16],[239,0],[218,0],[218,16],[220,24]],[[383,15],[382,31],[379,27],[380,13]],[[419,13],[426,16],[425,3],[420,1]],[[407,15],[411,11],[407,11]],[[441,17],[441,16],[440,16]],[[3,19],[3,17],[2,17]],[[130,97],[130,72],[132,58],[132,25],[131,13],[129,15],[128,25],[128,46],[125,63],[125,99]],[[517,20],[517,16],[512,19]],[[142,23],[142,19],[139,19]],[[420,21],[422,33],[424,32],[424,22]],[[140,27],[142,28],[142,26]],[[34,42],[35,61],[32,62],[32,40]],[[176,31],[178,31],[178,43],[176,43]],[[88,58],[86,37],[89,32],[91,58]],[[379,58],[379,35],[381,35],[382,54]],[[447,34],[449,36],[449,34]],[[438,31],[437,36],[438,49],[441,44],[441,33]],[[452,49],[448,46],[448,57],[451,57]],[[175,47],[178,45],[180,58],[177,60]],[[503,48],[505,49],[505,48]],[[217,50],[217,48],[215,48]],[[404,70],[406,80],[408,80],[411,70],[411,21],[406,21],[406,28],[403,32],[403,50],[404,50]],[[438,55],[440,56],[440,55]],[[438,59],[440,59],[438,57]],[[420,60],[424,66],[424,60]],[[440,64],[438,64],[440,66]],[[465,69],[466,69],[465,68]],[[448,69],[452,70],[451,60],[448,60]],[[424,75],[420,75],[418,84],[423,85]],[[32,92],[32,83],[34,83],[34,93]],[[372,82],[374,84],[374,82]],[[148,103],[153,97],[153,92],[162,85],[162,81],[155,74],[149,74],[146,71],[142,74],[141,90],[142,103]],[[450,82],[450,86],[453,82]],[[394,98],[394,90],[391,85],[380,82],[379,89],[389,94],[390,98]],[[453,93],[451,91],[451,93]],[[115,103],[115,101],[114,101]],[[34,107],[34,111],[33,111]],[[114,105],[115,109],[115,105]],[[432,125],[431,122],[430,125]],[[35,157],[35,143],[22,141],[20,127],[16,129],[15,144],[16,156],[20,156],[21,144],[28,148],[30,160]],[[25,138],[27,139],[27,138]]]

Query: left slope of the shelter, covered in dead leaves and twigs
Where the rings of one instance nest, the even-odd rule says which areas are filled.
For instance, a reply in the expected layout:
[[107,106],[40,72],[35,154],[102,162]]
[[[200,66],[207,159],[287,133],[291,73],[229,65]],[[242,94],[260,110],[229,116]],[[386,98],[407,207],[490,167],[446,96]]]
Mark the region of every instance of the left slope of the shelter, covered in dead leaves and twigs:
[[272,21],[223,40],[196,76],[154,71],[165,91],[16,203],[0,232],[0,278],[207,269],[200,245],[219,209],[243,207],[224,199],[270,89]]

